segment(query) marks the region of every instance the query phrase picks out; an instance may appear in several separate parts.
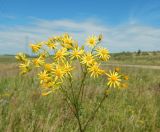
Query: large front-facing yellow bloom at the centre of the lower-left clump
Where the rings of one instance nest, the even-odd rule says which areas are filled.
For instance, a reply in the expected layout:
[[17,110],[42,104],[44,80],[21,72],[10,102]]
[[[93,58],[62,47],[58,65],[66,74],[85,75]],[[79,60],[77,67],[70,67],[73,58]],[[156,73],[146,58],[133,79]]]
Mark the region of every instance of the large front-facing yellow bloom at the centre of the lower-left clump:
[[64,69],[60,65],[56,65],[55,68],[52,68],[52,73],[55,76],[55,80],[62,80],[65,74]]

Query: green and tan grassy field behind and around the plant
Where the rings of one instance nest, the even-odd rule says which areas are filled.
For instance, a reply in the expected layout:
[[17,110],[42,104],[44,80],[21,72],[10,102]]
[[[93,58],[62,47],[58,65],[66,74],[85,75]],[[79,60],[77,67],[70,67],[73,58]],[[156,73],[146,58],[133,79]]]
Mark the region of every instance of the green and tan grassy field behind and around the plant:
[[[134,62],[129,62],[129,57],[126,59],[125,56],[115,55],[111,61],[125,64]],[[10,59],[0,58],[0,132],[78,131],[76,120],[64,105],[61,93],[42,97],[36,78],[32,75],[20,76],[16,64],[13,63],[14,59]],[[136,62],[151,65],[147,60],[148,57],[144,57],[142,61]],[[151,60],[154,61],[153,58]],[[158,57],[157,60],[153,65],[160,64]],[[129,75],[129,88],[110,93],[87,131],[159,132],[160,70],[123,67],[121,70]],[[88,117],[91,108],[95,107],[95,102],[100,100],[104,82],[105,77],[88,79],[85,109],[82,110],[86,113],[83,121]]]

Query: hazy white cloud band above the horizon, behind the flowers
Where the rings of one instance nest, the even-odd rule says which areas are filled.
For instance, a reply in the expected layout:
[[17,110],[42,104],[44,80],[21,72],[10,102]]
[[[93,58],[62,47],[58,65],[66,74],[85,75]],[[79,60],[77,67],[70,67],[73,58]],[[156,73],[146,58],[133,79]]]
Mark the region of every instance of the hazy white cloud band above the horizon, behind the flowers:
[[88,35],[104,35],[103,44],[112,52],[160,50],[160,28],[129,23],[107,26],[96,20],[76,22],[73,20],[35,19],[31,25],[7,27],[0,25],[0,54],[26,50],[29,43],[46,40],[53,35],[68,32],[83,43]]

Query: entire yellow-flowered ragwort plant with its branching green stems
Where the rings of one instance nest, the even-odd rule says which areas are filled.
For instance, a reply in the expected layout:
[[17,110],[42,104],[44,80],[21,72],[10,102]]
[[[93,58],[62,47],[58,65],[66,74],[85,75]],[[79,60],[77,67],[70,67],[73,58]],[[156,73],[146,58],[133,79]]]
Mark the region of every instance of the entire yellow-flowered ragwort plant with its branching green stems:
[[[49,38],[47,41],[31,44],[33,58],[27,58],[19,53],[16,59],[20,61],[21,74],[37,68],[42,96],[52,93],[61,93],[66,104],[72,111],[80,132],[84,132],[95,114],[102,106],[112,88],[126,88],[128,80],[126,75],[119,73],[119,68],[105,71],[102,64],[110,58],[109,51],[101,46],[102,35],[90,36],[83,45],[73,40],[68,34]],[[80,66],[80,72],[77,70]],[[78,78],[78,76],[80,76]],[[93,79],[104,77],[106,79],[105,91],[101,95],[97,107],[93,108],[90,117],[81,120],[83,98],[87,76]]]

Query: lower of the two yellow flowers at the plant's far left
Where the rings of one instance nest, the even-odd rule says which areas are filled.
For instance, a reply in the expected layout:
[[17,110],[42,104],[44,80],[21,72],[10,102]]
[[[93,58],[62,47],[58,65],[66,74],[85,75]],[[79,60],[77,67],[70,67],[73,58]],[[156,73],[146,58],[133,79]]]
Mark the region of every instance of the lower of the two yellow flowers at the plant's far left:
[[30,71],[30,61],[28,60],[27,62],[20,64],[19,68],[21,70],[21,74],[25,74],[29,72]]

